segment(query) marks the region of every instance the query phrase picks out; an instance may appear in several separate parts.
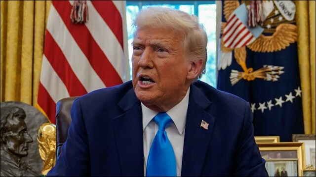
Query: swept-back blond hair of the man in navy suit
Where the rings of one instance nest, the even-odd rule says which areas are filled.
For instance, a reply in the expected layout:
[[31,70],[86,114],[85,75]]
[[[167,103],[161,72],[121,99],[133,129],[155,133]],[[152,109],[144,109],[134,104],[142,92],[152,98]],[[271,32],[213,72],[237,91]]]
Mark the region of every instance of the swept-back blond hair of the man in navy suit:
[[198,78],[205,74],[207,34],[204,27],[199,24],[197,16],[177,9],[152,6],[139,12],[133,20],[133,27],[135,29],[134,37],[136,31],[142,27],[178,31],[184,36],[183,45],[187,53],[186,58],[190,61],[201,60],[203,62]]

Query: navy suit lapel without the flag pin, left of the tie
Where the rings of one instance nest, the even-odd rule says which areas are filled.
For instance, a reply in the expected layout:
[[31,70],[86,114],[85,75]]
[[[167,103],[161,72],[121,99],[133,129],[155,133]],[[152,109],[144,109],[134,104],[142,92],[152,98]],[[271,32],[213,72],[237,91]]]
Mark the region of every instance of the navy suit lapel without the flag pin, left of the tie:
[[142,109],[133,89],[118,106],[124,113],[113,121],[122,176],[144,176]]

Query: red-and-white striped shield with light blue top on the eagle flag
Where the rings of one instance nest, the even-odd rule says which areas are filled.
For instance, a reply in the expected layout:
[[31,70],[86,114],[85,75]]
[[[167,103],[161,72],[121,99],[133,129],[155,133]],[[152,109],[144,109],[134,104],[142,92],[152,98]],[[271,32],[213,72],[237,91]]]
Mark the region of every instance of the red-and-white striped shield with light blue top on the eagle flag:
[[240,48],[251,44],[262,33],[263,28],[249,28],[246,25],[247,10],[245,4],[240,5],[229,17],[223,30],[223,43],[228,48]]

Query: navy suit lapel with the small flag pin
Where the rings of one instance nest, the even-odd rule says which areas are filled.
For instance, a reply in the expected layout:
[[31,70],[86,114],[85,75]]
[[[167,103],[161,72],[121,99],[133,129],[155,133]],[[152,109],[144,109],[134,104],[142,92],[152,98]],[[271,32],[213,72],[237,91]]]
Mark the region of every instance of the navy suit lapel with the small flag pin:
[[[181,176],[200,176],[206,151],[209,147],[215,119],[205,111],[211,102],[191,85],[185,129]],[[206,121],[208,130],[200,126]]]

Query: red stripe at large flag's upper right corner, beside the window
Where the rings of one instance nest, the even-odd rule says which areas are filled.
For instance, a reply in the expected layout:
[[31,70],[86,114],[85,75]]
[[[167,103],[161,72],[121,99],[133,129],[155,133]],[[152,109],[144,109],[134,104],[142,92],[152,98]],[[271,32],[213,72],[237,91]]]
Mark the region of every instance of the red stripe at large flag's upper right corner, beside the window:
[[109,28],[113,31],[122,49],[124,49],[122,17],[112,0],[91,0],[91,3],[98,11],[102,19],[108,24]]

